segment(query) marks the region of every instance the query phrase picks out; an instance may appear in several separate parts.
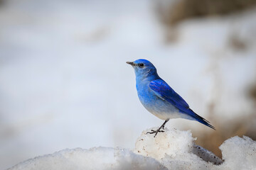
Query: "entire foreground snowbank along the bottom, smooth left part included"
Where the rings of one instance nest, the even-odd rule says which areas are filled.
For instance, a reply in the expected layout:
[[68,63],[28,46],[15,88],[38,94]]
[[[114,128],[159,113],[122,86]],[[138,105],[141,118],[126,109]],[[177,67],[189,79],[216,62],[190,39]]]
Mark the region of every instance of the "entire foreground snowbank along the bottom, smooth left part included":
[[255,169],[256,142],[232,137],[220,146],[222,159],[195,145],[190,131],[167,130],[154,135],[142,132],[134,152],[129,149],[95,147],[64,149],[29,159],[16,169]]

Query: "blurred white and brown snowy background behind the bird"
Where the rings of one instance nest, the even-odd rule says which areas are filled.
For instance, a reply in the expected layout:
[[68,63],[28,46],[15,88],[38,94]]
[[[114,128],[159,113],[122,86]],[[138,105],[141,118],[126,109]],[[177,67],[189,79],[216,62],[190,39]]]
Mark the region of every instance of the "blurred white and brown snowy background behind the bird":
[[150,60],[215,126],[197,144],[256,139],[256,0],[0,0],[0,169],[60,149],[126,147],[163,123],[134,70]]

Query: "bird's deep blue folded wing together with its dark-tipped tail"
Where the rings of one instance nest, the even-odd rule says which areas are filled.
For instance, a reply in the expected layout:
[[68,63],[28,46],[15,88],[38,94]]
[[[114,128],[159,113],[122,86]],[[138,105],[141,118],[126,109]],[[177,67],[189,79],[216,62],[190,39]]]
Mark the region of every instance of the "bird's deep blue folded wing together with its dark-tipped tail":
[[171,87],[166,84],[166,82],[162,79],[156,79],[154,81],[151,81],[149,84],[149,89],[151,89],[156,96],[161,98],[162,100],[168,101],[173,106],[178,108],[178,110],[181,113],[185,113],[187,115],[190,115],[192,118],[196,119],[198,122],[203,123],[203,125],[207,125],[210,128],[215,129],[212,125],[209,124],[209,122],[202,118],[200,115],[194,113],[188,106],[188,103],[184,101],[184,99],[179,96],[174,89],[171,89]]

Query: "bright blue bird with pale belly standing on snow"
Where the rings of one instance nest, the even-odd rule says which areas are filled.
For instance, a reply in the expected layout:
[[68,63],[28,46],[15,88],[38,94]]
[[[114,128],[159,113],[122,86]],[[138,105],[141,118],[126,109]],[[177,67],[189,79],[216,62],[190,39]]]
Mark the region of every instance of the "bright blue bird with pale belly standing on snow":
[[157,130],[151,130],[147,133],[155,133],[154,137],[156,137],[158,132],[164,132],[164,125],[171,118],[196,120],[215,130],[208,120],[194,113],[189,108],[188,103],[159,77],[156,67],[151,62],[139,59],[134,62],[127,62],[127,64],[131,64],[134,68],[139,101],[147,111],[156,115],[157,118],[165,120]]

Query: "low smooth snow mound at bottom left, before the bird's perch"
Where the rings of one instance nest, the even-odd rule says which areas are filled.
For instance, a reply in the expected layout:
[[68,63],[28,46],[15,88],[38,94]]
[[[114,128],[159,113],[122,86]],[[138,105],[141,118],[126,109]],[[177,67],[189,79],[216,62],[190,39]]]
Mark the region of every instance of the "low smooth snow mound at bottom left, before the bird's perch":
[[150,157],[134,154],[129,149],[95,147],[64,149],[54,154],[29,159],[11,168],[37,170],[71,169],[166,169]]

